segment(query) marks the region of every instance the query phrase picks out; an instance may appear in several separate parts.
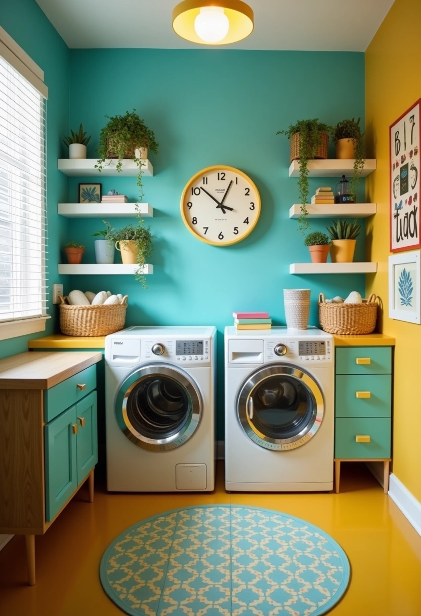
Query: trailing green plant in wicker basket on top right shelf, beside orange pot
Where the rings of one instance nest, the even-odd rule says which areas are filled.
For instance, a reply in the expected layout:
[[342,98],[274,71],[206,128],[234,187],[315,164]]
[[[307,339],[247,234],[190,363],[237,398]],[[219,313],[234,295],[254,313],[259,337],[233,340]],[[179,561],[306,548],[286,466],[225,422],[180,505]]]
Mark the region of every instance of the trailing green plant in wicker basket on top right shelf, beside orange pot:
[[299,217],[299,229],[304,235],[306,229],[310,228],[307,220],[307,201],[308,201],[308,161],[316,155],[316,149],[320,144],[320,133],[332,132],[332,126],[319,122],[318,118],[313,120],[299,120],[296,124],[291,124],[286,131],[278,131],[278,135],[286,135],[291,139],[296,132],[300,133],[300,174],[298,180],[299,196],[301,201],[301,212]]

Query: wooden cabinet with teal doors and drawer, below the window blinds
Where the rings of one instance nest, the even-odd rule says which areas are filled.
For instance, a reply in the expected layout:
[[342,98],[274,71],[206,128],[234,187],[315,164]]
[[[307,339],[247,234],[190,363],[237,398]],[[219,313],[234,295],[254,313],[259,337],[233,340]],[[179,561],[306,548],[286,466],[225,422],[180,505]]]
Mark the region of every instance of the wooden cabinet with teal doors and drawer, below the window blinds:
[[0,360],[0,533],[43,534],[82,484],[94,495],[98,352],[28,352]]

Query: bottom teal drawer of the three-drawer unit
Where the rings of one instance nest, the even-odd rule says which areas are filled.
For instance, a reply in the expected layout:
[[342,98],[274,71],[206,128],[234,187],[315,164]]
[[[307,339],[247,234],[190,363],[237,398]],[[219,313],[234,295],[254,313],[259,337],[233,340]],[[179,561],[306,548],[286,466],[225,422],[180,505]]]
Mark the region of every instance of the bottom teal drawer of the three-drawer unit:
[[[335,458],[390,458],[391,419],[341,417],[335,421]],[[369,442],[356,442],[369,436]]]

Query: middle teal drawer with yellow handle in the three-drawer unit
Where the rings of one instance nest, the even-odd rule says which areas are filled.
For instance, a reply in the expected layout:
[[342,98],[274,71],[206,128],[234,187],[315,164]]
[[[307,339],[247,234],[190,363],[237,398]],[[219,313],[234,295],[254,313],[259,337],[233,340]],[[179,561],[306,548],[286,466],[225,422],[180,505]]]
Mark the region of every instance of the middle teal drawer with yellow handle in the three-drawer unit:
[[339,375],[336,417],[390,417],[391,375]]

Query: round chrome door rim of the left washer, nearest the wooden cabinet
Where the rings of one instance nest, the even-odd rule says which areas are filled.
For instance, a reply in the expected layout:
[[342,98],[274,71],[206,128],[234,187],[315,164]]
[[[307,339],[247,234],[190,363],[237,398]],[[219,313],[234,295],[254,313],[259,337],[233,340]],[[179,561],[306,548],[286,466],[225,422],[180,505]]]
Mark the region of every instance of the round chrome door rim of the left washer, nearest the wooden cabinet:
[[[127,417],[127,400],[130,393],[139,383],[150,376],[166,376],[172,379],[185,389],[191,401],[191,410],[185,424],[180,431],[164,439],[152,439],[144,436],[132,426]],[[193,380],[186,373],[164,363],[148,364],[145,367],[136,368],[130,375],[126,376],[116,397],[115,413],[119,428],[132,443],[150,451],[167,451],[183,445],[196,431],[202,415],[202,399],[198,389],[193,384]]]

